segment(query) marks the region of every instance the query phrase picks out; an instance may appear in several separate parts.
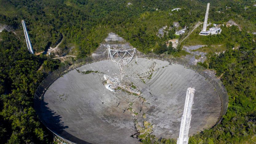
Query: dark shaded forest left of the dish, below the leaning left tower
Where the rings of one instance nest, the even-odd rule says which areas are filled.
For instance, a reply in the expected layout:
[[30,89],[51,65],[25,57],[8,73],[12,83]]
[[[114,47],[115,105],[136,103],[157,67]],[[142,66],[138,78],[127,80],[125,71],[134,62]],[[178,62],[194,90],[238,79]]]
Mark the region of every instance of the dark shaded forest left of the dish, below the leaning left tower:
[[[44,143],[45,128],[35,114],[33,96],[42,79],[58,68],[59,62],[30,54],[12,32],[2,31],[0,39],[1,143]],[[40,65],[42,70],[38,70]]]

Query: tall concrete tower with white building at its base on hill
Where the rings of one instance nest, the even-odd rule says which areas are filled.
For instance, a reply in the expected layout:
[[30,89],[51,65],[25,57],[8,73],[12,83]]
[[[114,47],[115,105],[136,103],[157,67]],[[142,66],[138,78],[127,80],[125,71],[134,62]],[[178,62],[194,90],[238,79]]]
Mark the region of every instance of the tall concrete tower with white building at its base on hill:
[[209,14],[209,7],[210,7],[210,3],[207,3],[207,9],[206,9],[205,18],[204,18],[203,30],[199,33],[200,35],[210,35],[210,34],[220,34],[221,33],[221,29],[219,27],[212,27],[212,28],[210,28],[210,30],[206,30],[208,14]]

